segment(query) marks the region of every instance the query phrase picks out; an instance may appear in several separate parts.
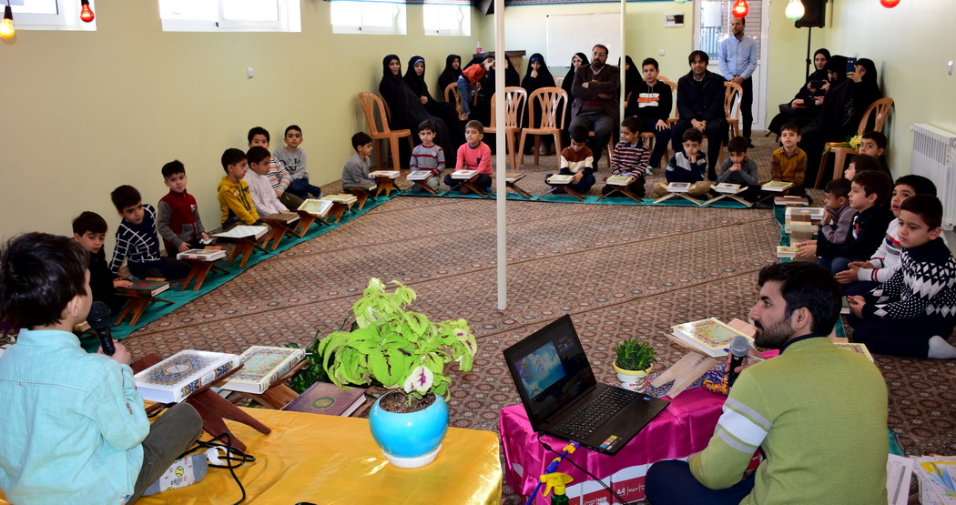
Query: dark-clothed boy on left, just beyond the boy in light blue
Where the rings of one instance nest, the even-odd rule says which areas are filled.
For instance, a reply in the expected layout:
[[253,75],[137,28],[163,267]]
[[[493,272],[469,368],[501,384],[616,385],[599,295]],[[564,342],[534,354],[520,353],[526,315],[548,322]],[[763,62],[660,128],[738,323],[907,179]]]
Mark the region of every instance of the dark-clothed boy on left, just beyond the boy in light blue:
[[106,220],[96,212],[83,211],[73,220],[73,240],[90,253],[90,289],[93,291],[93,301],[102,302],[110,307],[110,312],[116,314],[129,300],[117,295],[118,287],[133,285],[110,271],[106,263],[106,253],[103,251],[103,241],[106,239]]

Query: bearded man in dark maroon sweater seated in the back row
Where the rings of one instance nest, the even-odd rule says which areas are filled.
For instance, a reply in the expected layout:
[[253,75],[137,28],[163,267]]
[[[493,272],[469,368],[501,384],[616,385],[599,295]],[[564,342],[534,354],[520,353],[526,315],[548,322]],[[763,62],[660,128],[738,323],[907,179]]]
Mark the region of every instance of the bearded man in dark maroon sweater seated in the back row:
[[[591,64],[581,65],[575,72],[575,84],[572,91],[575,103],[571,106],[571,126],[583,126],[594,131],[595,136],[588,142],[588,148],[594,153],[594,167],[607,141],[618,131],[620,104],[620,69],[607,62],[607,46],[597,44],[591,50]],[[608,153],[608,156],[613,153]]]

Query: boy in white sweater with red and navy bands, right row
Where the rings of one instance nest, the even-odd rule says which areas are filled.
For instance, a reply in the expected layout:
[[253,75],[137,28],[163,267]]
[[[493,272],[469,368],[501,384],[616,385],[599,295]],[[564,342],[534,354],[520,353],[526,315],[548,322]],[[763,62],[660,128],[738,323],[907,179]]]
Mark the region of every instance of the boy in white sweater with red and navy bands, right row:
[[[890,200],[890,210],[896,218],[900,217],[902,202],[914,195],[936,196],[936,184],[923,176],[908,175],[896,181],[893,188],[893,198]],[[943,236],[940,236],[943,240]],[[945,241],[944,241],[945,242]],[[886,236],[877,252],[868,262],[851,262],[847,270],[836,274],[845,295],[863,295],[869,293],[878,285],[885,283],[900,268],[900,220],[890,221],[886,228]]]

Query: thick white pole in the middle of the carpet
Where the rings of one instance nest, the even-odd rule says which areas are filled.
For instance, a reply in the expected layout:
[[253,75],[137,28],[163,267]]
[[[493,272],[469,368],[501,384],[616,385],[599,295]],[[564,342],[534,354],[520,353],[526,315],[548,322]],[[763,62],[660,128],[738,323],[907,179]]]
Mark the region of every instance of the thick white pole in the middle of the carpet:
[[[508,230],[506,227],[508,215],[505,212],[505,201],[508,200],[508,189],[505,186],[505,174],[508,167],[505,164],[508,155],[505,154],[505,0],[494,0],[494,123],[497,132],[494,136],[495,157],[495,208],[498,235],[498,310],[508,308]],[[518,167],[512,167],[517,170]]]

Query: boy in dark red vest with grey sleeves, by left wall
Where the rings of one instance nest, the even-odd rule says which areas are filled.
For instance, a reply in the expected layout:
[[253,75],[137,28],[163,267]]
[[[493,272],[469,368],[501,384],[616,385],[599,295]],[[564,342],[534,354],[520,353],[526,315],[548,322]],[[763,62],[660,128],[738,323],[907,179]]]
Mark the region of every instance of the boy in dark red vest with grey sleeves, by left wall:
[[156,228],[163,237],[166,255],[172,258],[176,253],[201,249],[199,241],[209,240],[196,199],[185,191],[185,180],[182,161],[174,159],[163,165],[163,182],[169,193],[157,204]]

